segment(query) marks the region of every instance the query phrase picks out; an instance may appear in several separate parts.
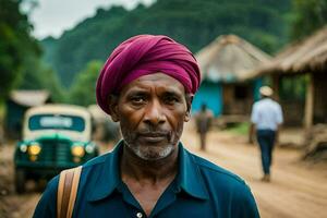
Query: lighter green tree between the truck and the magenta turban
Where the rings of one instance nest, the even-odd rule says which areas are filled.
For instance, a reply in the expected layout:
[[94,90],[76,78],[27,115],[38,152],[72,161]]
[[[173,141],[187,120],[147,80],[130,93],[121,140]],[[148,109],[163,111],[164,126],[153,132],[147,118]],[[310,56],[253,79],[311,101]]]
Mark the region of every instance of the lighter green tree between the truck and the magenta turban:
[[88,106],[96,104],[96,82],[102,66],[101,61],[90,61],[86,68],[81,71],[74,80],[70,92],[70,104]]

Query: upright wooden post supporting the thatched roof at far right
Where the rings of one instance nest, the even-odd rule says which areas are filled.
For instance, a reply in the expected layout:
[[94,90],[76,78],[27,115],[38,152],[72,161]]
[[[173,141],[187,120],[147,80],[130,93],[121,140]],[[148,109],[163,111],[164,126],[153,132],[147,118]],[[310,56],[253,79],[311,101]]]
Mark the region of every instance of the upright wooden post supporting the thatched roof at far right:
[[314,111],[314,75],[308,74],[308,84],[306,88],[305,110],[304,110],[304,129],[306,133],[313,125],[313,111]]

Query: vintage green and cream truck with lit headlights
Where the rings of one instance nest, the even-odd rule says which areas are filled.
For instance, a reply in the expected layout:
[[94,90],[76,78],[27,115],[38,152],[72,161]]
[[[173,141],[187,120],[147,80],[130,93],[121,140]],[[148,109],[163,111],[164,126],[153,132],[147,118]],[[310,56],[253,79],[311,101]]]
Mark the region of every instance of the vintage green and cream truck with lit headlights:
[[98,156],[92,126],[92,117],[83,107],[45,105],[28,109],[23,140],[14,154],[16,192],[25,191],[27,180],[50,179]]

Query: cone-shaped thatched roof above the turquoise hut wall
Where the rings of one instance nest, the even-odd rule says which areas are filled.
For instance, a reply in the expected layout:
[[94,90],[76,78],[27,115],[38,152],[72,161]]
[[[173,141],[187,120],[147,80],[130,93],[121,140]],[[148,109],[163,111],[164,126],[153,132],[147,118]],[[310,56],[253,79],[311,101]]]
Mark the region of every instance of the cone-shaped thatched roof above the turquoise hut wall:
[[239,82],[250,78],[270,57],[235,35],[222,35],[195,55],[202,78],[210,82]]

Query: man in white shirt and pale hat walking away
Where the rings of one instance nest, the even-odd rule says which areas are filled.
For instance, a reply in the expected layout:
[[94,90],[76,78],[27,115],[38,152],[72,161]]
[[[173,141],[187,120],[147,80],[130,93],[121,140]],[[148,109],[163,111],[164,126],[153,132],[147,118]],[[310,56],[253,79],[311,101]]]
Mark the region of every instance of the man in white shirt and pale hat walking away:
[[256,138],[261,147],[262,165],[264,177],[263,181],[270,181],[270,166],[272,161],[272,149],[278,136],[279,125],[282,123],[282,111],[278,102],[271,99],[272,89],[263,86],[259,89],[262,99],[256,101],[252,107],[250,142],[254,128],[256,129]]

